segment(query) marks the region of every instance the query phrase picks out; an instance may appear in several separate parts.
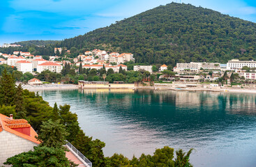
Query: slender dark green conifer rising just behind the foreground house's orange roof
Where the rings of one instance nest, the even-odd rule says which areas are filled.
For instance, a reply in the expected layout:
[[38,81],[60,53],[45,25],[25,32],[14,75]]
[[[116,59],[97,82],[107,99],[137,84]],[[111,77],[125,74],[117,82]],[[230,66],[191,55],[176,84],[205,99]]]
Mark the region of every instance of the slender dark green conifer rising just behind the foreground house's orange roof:
[[16,89],[15,110],[17,113],[17,118],[26,118],[27,111],[24,106],[23,89],[21,84],[17,86],[17,89]]

